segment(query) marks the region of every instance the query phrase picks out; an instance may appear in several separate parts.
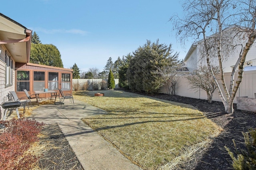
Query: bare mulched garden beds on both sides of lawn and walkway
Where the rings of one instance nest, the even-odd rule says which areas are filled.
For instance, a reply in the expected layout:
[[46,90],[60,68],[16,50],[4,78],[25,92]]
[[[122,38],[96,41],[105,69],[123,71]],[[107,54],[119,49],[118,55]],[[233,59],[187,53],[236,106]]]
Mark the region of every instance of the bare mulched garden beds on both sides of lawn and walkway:
[[[170,100],[174,102],[190,104],[197,107],[204,113],[206,117],[220,125],[224,131],[214,139],[214,142],[204,150],[196,153],[194,158],[188,162],[184,167],[185,170],[228,170],[232,169],[231,158],[225,150],[224,146],[227,146],[231,150],[233,149],[233,139],[236,141],[238,147],[244,147],[241,143],[244,142],[242,132],[247,132],[249,128],[256,128],[256,114],[236,110],[233,114],[226,114],[224,112],[224,106],[222,102],[208,103],[206,100],[199,100],[194,98],[186,98],[181,96],[168,96],[167,94],[151,95],[155,98],[164,100]],[[236,105],[234,105],[236,108]],[[57,124],[53,124],[54,129],[57,128]],[[57,127],[56,127],[57,126]],[[49,127],[50,128],[50,127]],[[44,156],[39,164],[50,169],[72,169],[82,170],[76,155],[68,145],[63,134],[54,135],[52,133],[52,139],[57,149],[52,149]]]

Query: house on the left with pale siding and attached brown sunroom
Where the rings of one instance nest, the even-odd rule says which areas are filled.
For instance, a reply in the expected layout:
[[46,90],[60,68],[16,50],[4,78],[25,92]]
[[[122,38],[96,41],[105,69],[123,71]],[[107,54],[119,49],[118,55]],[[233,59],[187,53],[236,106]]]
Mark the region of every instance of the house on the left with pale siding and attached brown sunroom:
[[[31,39],[32,30],[0,13],[0,103],[10,91],[25,97],[23,89],[30,94],[43,88],[72,93],[72,69],[29,63]],[[3,113],[0,107],[0,119]]]

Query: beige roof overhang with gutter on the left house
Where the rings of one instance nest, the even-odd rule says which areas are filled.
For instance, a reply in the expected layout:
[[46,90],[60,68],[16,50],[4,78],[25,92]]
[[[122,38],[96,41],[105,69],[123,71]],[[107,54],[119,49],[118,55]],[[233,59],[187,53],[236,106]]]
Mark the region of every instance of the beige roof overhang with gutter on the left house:
[[0,13],[0,45],[4,45],[15,62],[30,59],[32,30]]

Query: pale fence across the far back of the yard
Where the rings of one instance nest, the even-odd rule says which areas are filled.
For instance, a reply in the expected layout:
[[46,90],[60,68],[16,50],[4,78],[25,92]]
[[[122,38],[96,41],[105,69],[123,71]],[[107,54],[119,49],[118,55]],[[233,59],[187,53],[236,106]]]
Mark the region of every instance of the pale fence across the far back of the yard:
[[[73,83],[73,88],[74,88],[75,83],[84,84],[84,83],[87,82],[88,85],[89,85],[87,90],[96,90],[95,87],[94,87],[95,85],[98,86],[98,90],[100,90],[101,89],[100,83],[102,82],[102,80],[108,82],[108,79],[94,79],[94,78],[92,78],[92,79],[80,79],[80,78],[78,78],[78,79],[73,79],[72,83]],[[119,79],[115,79],[115,88],[118,88],[118,80]]]

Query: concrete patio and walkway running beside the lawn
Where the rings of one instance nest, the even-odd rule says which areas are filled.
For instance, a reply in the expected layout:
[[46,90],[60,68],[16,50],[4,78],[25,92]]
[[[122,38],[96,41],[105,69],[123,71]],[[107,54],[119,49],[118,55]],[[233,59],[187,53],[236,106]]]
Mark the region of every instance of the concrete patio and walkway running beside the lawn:
[[110,143],[82,122],[82,118],[106,113],[84,102],[65,100],[64,105],[40,105],[31,118],[58,123],[85,170],[140,170]]

